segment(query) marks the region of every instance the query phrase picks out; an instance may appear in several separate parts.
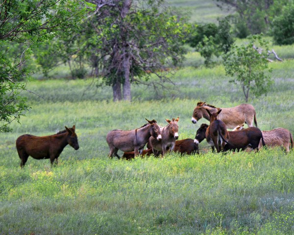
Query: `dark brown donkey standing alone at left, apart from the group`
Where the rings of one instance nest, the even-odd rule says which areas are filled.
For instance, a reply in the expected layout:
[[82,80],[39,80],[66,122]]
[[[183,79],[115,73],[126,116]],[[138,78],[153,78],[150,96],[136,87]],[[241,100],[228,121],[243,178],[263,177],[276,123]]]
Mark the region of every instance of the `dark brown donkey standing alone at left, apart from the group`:
[[50,159],[50,163],[58,163],[58,157],[66,145],[71,145],[78,150],[77,136],[75,134],[75,126],[72,128],[65,127],[64,131],[60,131],[51,136],[33,136],[22,135],[16,140],[16,149],[21,159],[21,167],[23,167],[31,156],[34,159]]

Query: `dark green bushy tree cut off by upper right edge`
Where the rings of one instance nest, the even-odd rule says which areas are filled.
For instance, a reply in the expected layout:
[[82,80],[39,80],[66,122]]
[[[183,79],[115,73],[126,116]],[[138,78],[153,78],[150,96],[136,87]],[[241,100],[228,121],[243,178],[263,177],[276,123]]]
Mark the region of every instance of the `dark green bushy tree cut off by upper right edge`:
[[282,9],[272,22],[273,40],[278,45],[294,44],[294,1]]

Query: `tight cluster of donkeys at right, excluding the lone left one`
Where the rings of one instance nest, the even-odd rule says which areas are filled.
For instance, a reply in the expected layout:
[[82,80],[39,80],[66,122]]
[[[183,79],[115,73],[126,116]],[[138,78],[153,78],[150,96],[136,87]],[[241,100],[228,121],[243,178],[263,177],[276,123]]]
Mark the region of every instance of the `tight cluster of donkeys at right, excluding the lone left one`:
[[[193,111],[192,122],[200,118],[209,120],[210,124],[202,123],[196,131],[195,139],[178,139],[179,118],[166,119],[168,125],[158,126],[155,120],[130,131],[112,130],[107,134],[109,157],[114,155],[120,159],[118,150],[124,152],[123,159],[132,159],[139,154],[164,157],[167,151],[181,154],[199,154],[199,143],[206,139],[212,151],[236,151],[251,148],[258,150],[262,146],[281,146],[286,152],[293,148],[293,136],[285,128],[261,131],[257,128],[256,112],[252,105],[241,104],[233,108],[217,108],[205,102],[198,102]],[[248,128],[244,129],[244,124]],[[253,126],[253,123],[256,127]],[[233,129],[228,131],[227,129]],[[142,134],[143,133],[143,134]],[[147,144],[147,149],[144,150]]]

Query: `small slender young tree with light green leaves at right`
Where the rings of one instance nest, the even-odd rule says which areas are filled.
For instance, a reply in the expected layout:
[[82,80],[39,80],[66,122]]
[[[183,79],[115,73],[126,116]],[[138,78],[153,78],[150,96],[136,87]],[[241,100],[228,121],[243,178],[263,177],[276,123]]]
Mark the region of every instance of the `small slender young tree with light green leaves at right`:
[[231,48],[224,66],[226,75],[234,77],[230,82],[241,85],[245,101],[248,102],[249,91],[256,97],[267,94],[272,80],[265,73],[269,64],[268,43],[261,35],[248,36],[246,39],[249,41],[246,45]]

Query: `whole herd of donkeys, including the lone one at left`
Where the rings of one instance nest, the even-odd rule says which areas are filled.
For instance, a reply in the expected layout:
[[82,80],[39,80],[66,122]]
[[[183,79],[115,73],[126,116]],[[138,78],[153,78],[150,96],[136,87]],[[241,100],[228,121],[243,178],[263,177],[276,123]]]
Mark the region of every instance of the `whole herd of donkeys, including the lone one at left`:
[[[109,157],[118,155],[118,150],[124,152],[123,159],[132,159],[137,156],[164,157],[169,151],[181,154],[199,154],[199,143],[206,139],[212,151],[245,150],[246,148],[259,149],[262,146],[281,146],[286,152],[293,148],[293,136],[285,128],[276,128],[270,131],[261,131],[257,128],[256,112],[252,105],[241,104],[233,108],[217,108],[205,102],[198,102],[193,111],[192,122],[197,123],[200,118],[209,120],[196,131],[195,139],[177,140],[179,118],[166,119],[167,125],[159,126],[156,120],[147,120],[140,128],[133,130],[112,130],[106,136],[109,145]],[[244,124],[248,128],[244,129]],[[253,126],[253,123],[256,127]],[[228,129],[233,129],[228,131]],[[75,126],[60,131],[54,135],[37,137],[22,135],[16,140],[16,148],[23,167],[31,156],[34,159],[50,159],[50,163],[57,164],[58,157],[67,145],[75,150],[79,148]],[[144,147],[147,145],[147,149]]]

